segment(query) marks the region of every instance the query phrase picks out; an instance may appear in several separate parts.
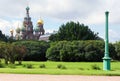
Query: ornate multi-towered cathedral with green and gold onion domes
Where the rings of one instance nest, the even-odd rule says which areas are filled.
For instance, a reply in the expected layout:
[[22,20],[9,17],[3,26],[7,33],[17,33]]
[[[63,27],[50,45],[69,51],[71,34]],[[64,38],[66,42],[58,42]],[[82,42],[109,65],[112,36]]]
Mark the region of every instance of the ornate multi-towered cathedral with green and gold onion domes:
[[[29,15],[30,8],[26,7],[26,16],[24,17],[22,27],[16,29],[16,40],[39,40],[40,36],[45,34],[45,30],[43,28],[43,20],[40,19],[37,21],[36,27],[33,28],[33,23],[31,21],[31,17]],[[11,31],[12,35],[12,31]]]

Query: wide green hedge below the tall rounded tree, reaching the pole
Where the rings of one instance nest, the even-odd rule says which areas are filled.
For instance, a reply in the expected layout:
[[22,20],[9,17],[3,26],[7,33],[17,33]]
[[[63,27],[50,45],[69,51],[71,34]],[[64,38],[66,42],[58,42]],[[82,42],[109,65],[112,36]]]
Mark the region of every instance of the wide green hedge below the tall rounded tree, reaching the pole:
[[[115,48],[109,44],[110,56],[116,59]],[[59,41],[51,44],[46,57],[52,61],[102,61],[104,41]]]

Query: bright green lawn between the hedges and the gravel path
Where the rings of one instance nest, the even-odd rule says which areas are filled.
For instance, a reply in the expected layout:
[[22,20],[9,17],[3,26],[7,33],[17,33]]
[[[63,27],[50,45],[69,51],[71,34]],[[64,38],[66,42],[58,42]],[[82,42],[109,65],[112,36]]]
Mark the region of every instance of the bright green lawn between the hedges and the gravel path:
[[[32,68],[26,66],[30,64]],[[45,68],[39,66],[44,64]],[[58,65],[64,66],[57,68]],[[100,70],[92,69],[92,66],[97,65]],[[120,76],[120,62],[111,62],[111,71],[102,70],[102,62],[23,62],[22,65],[0,68],[0,73],[15,73],[15,74],[55,74],[55,75],[110,75]]]

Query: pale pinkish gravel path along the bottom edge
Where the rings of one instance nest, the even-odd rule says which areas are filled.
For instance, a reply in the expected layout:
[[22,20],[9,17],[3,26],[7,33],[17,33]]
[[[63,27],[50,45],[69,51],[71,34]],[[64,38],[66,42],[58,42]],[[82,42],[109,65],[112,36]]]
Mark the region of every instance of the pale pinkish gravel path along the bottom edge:
[[120,81],[120,76],[0,74],[0,81]]

